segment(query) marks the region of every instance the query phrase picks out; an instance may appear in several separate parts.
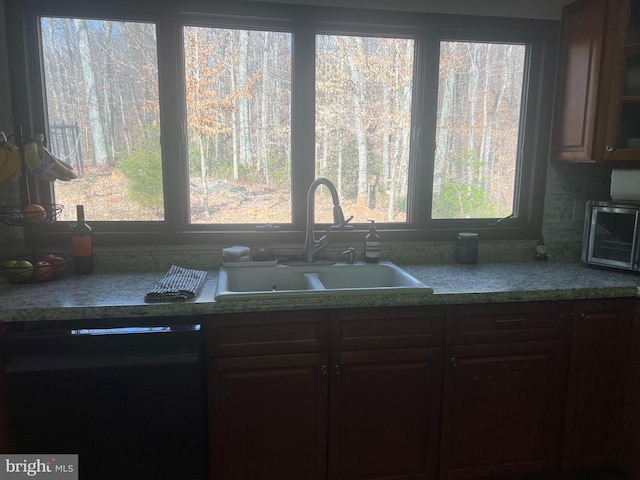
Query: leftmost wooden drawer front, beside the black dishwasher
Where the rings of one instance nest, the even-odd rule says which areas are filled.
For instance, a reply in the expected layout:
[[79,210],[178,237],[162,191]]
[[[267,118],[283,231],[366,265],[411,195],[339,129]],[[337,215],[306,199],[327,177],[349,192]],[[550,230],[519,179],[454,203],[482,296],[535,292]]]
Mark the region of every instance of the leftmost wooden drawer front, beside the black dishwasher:
[[326,350],[326,314],[318,311],[231,314],[214,317],[207,354],[215,357]]

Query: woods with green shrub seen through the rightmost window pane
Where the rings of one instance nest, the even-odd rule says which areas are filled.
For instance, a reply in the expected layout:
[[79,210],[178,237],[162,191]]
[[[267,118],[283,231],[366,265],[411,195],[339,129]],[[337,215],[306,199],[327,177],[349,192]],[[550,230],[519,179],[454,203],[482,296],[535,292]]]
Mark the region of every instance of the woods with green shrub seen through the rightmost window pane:
[[524,45],[441,42],[433,218],[514,213]]

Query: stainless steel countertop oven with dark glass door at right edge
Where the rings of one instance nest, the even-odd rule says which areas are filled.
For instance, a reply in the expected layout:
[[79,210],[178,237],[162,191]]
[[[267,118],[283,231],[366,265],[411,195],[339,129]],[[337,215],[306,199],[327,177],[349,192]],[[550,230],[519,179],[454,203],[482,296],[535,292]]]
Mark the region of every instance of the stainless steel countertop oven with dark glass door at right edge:
[[640,271],[640,202],[587,202],[582,261]]

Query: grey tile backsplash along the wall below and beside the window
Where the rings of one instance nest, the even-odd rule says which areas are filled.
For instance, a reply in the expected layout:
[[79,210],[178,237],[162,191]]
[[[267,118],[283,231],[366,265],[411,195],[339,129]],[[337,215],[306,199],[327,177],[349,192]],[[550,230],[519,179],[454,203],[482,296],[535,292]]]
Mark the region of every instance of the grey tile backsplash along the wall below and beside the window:
[[[549,164],[547,171],[542,233],[549,249],[550,259],[578,259],[584,223],[584,208],[588,199],[608,198],[610,167],[600,165]],[[16,185],[0,187],[0,205],[19,203]],[[0,223],[0,253],[2,250],[21,250],[20,228]],[[226,245],[225,245],[226,246]],[[325,256],[340,260],[343,247],[331,245]],[[480,241],[479,262],[502,262],[533,258],[535,241],[483,242]],[[300,245],[282,245],[276,255],[296,257]],[[217,267],[222,246],[202,248],[168,247],[166,249],[100,249],[96,252],[97,271],[163,270],[171,263],[184,267]],[[455,261],[454,242],[427,242],[415,244],[384,244],[384,259],[398,263],[439,264]]]

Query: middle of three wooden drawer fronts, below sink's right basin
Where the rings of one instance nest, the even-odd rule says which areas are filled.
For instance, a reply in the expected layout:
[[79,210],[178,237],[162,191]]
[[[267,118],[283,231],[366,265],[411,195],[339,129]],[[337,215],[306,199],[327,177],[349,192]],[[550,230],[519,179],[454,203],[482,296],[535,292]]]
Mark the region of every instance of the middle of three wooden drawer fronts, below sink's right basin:
[[334,350],[426,347],[441,343],[443,336],[442,307],[363,308],[331,314]]

